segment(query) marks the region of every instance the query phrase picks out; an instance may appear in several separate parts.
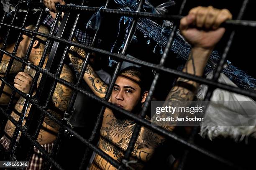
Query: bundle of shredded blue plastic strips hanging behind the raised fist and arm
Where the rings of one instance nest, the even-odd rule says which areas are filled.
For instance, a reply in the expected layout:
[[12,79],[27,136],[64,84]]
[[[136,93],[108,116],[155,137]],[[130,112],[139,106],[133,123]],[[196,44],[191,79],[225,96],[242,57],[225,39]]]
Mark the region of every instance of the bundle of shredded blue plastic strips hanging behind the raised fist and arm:
[[[114,0],[115,3],[120,5],[120,10],[131,10],[136,11],[138,3],[136,0]],[[167,5],[168,4],[168,5]],[[167,6],[174,5],[174,1],[168,1],[165,5],[161,4],[158,7],[154,8],[153,5],[151,5],[148,0],[145,1],[145,5],[143,5],[143,10],[146,12],[151,13],[165,13],[167,10],[165,9]],[[120,24],[128,23],[126,24],[126,34],[124,37],[124,40],[127,36],[127,32],[131,26],[131,17],[124,17],[122,16],[120,18],[119,22],[119,31],[118,36],[120,32]],[[158,51],[160,54],[163,53],[163,49],[166,46],[166,43],[168,41],[169,35],[171,33],[171,30],[168,29],[170,26],[172,28],[172,22],[170,21],[164,21],[163,26],[159,25],[158,23],[147,19],[147,18],[139,18],[138,24],[137,24],[137,30],[139,30],[145,38],[148,38],[147,44],[151,43],[151,40],[157,42],[156,46],[160,46],[160,51]],[[180,32],[177,31],[177,35],[174,38],[174,42],[172,44],[171,50],[174,51],[174,53],[177,53],[177,56],[179,58],[183,58],[184,60],[187,60],[191,46],[189,43],[187,43],[184,38],[181,36]],[[136,38],[136,36],[133,36]],[[113,48],[115,46],[116,42],[113,45]],[[124,44],[124,43],[123,43]],[[120,47],[120,49],[123,48],[123,44]],[[112,50],[113,50],[112,48]],[[156,47],[155,47],[156,48]],[[156,53],[155,48],[153,49],[153,52]],[[120,51],[119,49],[119,51]],[[112,51],[111,50],[111,51]],[[208,74],[210,73],[215,67],[217,66],[218,61],[220,60],[220,56],[217,51],[213,51],[210,60],[207,63],[207,66],[205,68],[205,72]],[[110,64],[109,66],[112,66],[112,63],[115,62],[112,58],[110,58]],[[250,89],[254,90],[256,88],[256,79],[246,74],[246,72],[239,70],[235,66],[231,65],[230,62],[227,62],[227,66],[222,70],[222,72],[231,80],[233,81],[238,87],[243,89]]]

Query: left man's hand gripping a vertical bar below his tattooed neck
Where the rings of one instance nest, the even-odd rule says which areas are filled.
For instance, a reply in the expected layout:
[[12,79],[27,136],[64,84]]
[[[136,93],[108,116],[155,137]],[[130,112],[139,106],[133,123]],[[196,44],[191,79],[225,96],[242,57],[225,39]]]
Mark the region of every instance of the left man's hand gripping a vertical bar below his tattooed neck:
[[28,94],[33,77],[25,72],[19,72],[14,79],[14,87],[23,93]]

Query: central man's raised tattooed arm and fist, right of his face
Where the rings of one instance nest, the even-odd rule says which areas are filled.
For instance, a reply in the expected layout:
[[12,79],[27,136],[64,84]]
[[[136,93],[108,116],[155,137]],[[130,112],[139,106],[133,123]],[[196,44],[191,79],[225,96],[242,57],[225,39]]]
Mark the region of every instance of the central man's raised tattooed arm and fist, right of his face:
[[[225,32],[225,28],[219,28],[219,25],[231,18],[232,15],[228,10],[218,10],[212,7],[193,8],[190,10],[189,15],[182,18],[180,21],[181,33],[192,45],[189,58],[182,70],[183,72],[195,76],[203,75],[205,65],[213,48]],[[166,103],[176,107],[173,101],[193,100],[198,86],[199,84],[195,81],[178,78],[166,98]],[[169,131],[174,129],[174,126],[163,124],[161,126]],[[163,137],[153,134],[153,132],[145,127],[142,127],[141,134],[138,137],[138,141],[150,143],[150,145],[147,145],[149,148],[156,147],[163,140]]]

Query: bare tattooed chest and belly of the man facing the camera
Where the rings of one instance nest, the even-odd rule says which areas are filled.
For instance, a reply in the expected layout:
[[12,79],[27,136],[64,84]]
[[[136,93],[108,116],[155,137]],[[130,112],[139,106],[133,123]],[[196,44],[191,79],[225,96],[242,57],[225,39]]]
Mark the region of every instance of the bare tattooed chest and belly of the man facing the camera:
[[[124,154],[123,151],[128,147],[136,124],[130,120],[116,119],[113,112],[108,108],[105,110],[103,117],[98,147],[114,160],[121,162]],[[162,140],[164,140],[163,137],[142,127],[132,152],[133,158],[131,159],[135,158],[138,160],[136,164],[133,164],[133,167],[142,169],[143,162],[147,162],[150,159],[154,153],[155,147],[159,145]],[[90,166],[90,170],[116,169],[118,168],[114,167],[97,154]]]

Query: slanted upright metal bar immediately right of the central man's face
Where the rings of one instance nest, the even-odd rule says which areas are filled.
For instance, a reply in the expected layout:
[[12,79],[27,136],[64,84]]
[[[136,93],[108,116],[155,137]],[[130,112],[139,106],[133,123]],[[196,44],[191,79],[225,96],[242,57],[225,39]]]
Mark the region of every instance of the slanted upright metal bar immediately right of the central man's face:
[[[185,6],[186,3],[187,3],[187,0],[183,0],[182,5],[181,5],[180,10],[179,10],[179,15],[182,14],[182,11],[183,11],[184,6]],[[177,25],[174,25],[174,27],[172,28],[172,33],[171,33],[171,35],[169,36],[169,40],[168,40],[168,42],[167,42],[167,44],[166,44],[166,47],[165,47],[165,49],[164,49],[163,56],[162,56],[162,58],[161,58],[161,60],[160,60],[160,63],[159,63],[159,65],[161,65],[161,66],[164,65],[164,63],[165,63],[165,61],[166,61],[166,58],[169,56],[169,51],[170,51],[170,48],[171,48],[172,43],[173,43],[173,41],[174,41],[174,36],[176,35],[177,29],[178,29],[178,26],[177,26]],[[139,114],[139,117],[140,117],[141,119],[144,119],[144,117],[145,117],[145,115],[146,115],[146,111],[147,111],[147,109],[148,109],[148,107],[149,107],[149,102],[151,101],[152,95],[153,95],[153,93],[154,93],[154,90],[155,90],[155,87],[156,87],[156,83],[157,83],[157,81],[158,81],[158,79],[159,79],[159,75],[160,75],[159,73],[156,73],[156,75],[154,76],[154,80],[153,80],[153,82],[152,82],[152,84],[151,84],[151,87],[150,87],[150,89],[149,89],[149,91],[148,91],[147,99],[146,99],[146,101],[145,101],[145,103],[144,103],[144,106],[143,106],[143,108],[142,108],[141,113]],[[132,152],[133,149],[134,149],[134,145],[135,145],[135,142],[136,142],[136,140],[137,140],[137,137],[138,137],[138,135],[139,135],[139,133],[140,133],[140,129],[141,129],[141,125],[136,124],[136,126],[135,126],[135,128],[134,128],[134,130],[133,130],[133,134],[132,134],[131,140],[130,140],[130,142],[129,142],[129,145],[128,145],[128,147],[127,147],[127,149],[126,149],[126,152],[125,152],[125,154],[124,154],[124,159],[125,159],[125,160],[129,160],[129,157],[130,157],[130,155],[131,155],[131,152]]]

